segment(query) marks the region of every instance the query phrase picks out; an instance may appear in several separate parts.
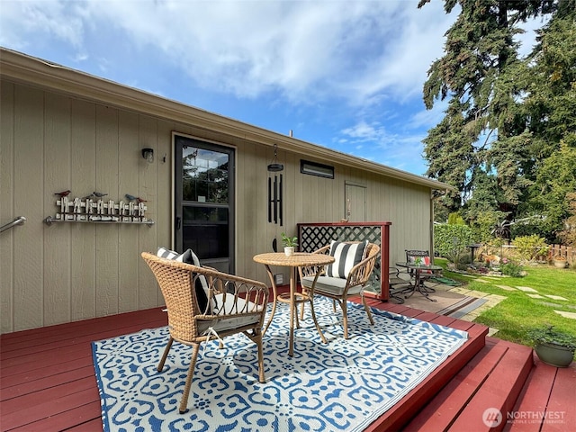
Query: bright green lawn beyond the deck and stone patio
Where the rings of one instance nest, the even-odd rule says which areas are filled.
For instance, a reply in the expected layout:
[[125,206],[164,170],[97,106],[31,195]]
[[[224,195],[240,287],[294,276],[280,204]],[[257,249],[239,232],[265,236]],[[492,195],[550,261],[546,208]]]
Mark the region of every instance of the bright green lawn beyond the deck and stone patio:
[[[436,258],[435,264],[446,269],[446,259]],[[507,297],[489,311],[485,311],[475,322],[491,328],[498,329],[496,338],[509,340],[522,345],[531,345],[527,338],[527,330],[534,327],[553,325],[554,329],[563,330],[576,337],[576,320],[564,318],[554,311],[567,311],[576,313],[576,270],[560,269],[554,266],[525,266],[527,276],[502,276],[498,280],[487,279],[488,284],[476,282],[475,279],[465,277],[448,270],[444,275],[462,282],[467,288],[482,293],[499,294]],[[474,275],[476,278],[482,275]],[[544,298],[533,298],[520,290],[507,291],[498,285],[512,288],[529,287],[536,290]],[[554,300],[547,295],[560,296],[567,300]]]

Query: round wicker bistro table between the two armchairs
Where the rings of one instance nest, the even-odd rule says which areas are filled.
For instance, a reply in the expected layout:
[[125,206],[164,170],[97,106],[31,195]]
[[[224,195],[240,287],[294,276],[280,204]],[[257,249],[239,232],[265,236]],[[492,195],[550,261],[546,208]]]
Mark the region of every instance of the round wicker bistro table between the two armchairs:
[[[314,278],[314,282],[309,290],[305,293],[297,293],[296,292],[296,271],[298,267],[307,267],[307,266],[326,266],[330,263],[334,262],[334,257],[330,257],[329,255],[324,254],[311,254],[307,252],[296,252],[291,256],[286,256],[283,252],[274,252],[268,254],[259,254],[253,257],[254,261],[260,264],[264,264],[266,266],[266,272],[268,273],[268,277],[270,277],[270,282],[272,283],[272,289],[274,292],[274,304],[272,305],[272,312],[270,313],[270,318],[266,323],[266,327],[262,331],[262,333],[266,333],[268,327],[270,327],[270,323],[274,318],[274,314],[276,311],[276,303],[277,302],[284,302],[290,304],[290,341],[289,341],[289,348],[288,348],[288,355],[293,356],[294,353],[294,318],[296,319],[297,327],[298,325],[298,317],[296,316],[296,308],[295,305],[299,303],[310,302],[311,306],[311,314],[312,320],[314,320],[314,325],[316,329],[320,333],[320,338],[322,338],[322,342],[325,344],[327,343],[326,338],[324,338],[324,334],[320,329],[320,325],[316,320],[316,313],[314,312],[314,286],[316,286],[316,281],[318,280],[318,276],[320,272],[316,272],[316,277]],[[276,291],[276,283],[275,277],[270,270],[270,266],[284,266],[290,267],[290,293],[283,293],[278,295]],[[303,306],[302,306],[303,307]]]

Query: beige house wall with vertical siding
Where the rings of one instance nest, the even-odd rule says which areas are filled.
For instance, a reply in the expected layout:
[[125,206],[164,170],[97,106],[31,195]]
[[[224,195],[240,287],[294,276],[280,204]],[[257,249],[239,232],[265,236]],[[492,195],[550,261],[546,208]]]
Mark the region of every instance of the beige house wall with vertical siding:
[[[274,157],[268,145],[8,81],[0,82],[0,101],[0,225],[27,218],[0,233],[2,333],[163,304],[139,254],[171,245],[173,131],[237,148],[238,275],[267,282],[252,257],[271,251],[273,238],[295,235],[298,222],[345,217],[347,183],[365,185],[366,221],[392,221],[392,262],[404,248],[428,248],[428,187],[320,160],[335,166],[333,180],[302,175],[300,159],[308,157],[281,148],[281,227],[267,222],[266,166]],[[147,147],[155,149],[153,164],[140,155]],[[67,189],[71,197],[142,196],[156,223],[46,225],[57,212],[54,193]]]

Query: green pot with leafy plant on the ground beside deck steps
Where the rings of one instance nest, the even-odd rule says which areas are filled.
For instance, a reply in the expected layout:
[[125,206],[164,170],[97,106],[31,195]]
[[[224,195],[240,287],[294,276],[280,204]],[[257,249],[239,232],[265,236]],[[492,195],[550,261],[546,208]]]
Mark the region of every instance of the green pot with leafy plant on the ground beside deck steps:
[[554,326],[528,330],[534,350],[546,365],[567,367],[572,363],[576,350],[576,337],[554,330]]

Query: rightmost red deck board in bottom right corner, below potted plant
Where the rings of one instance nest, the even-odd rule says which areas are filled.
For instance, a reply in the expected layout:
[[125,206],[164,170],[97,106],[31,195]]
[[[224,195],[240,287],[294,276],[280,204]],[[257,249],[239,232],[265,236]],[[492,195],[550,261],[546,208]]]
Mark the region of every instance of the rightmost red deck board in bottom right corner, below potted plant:
[[576,426],[576,363],[558,368],[546,412],[542,432],[565,432]]

